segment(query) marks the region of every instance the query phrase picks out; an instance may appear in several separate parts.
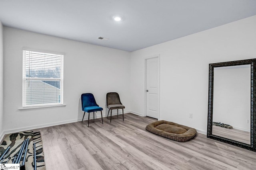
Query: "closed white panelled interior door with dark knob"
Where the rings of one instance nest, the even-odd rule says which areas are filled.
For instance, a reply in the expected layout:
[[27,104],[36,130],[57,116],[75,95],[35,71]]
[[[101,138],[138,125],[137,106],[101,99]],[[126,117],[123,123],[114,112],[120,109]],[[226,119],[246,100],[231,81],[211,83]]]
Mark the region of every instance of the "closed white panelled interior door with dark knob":
[[146,60],[146,116],[158,119],[158,58]]

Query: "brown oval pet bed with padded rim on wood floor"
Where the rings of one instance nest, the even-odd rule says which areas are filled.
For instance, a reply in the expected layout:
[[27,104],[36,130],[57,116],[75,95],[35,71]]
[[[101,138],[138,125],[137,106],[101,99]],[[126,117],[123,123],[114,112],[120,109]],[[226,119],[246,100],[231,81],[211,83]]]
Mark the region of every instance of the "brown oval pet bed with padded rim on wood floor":
[[164,120],[148,124],[146,130],[178,142],[186,142],[196,136],[196,129]]

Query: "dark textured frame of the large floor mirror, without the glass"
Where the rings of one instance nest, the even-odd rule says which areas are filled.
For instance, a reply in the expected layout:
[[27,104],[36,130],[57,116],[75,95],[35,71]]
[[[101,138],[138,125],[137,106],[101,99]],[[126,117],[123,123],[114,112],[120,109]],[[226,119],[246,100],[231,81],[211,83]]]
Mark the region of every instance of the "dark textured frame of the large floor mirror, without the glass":
[[[251,65],[251,127],[250,127],[250,143],[242,143],[220,137],[217,135],[212,135],[212,116],[213,116],[213,81],[214,81],[214,68],[224,67],[224,66],[238,66],[238,65]],[[240,61],[229,61],[223,63],[213,63],[209,64],[209,96],[208,96],[208,125],[207,125],[207,137],[237,147],[252,150],[256,152],[256,59],[240,60]]]

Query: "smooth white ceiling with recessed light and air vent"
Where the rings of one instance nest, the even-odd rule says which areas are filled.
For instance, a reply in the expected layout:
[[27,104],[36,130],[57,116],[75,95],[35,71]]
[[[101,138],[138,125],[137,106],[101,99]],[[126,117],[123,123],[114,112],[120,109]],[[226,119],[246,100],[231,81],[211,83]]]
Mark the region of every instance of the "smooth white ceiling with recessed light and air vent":
[[125,51],[254,15],[256,0],[0,0],[5,26]]

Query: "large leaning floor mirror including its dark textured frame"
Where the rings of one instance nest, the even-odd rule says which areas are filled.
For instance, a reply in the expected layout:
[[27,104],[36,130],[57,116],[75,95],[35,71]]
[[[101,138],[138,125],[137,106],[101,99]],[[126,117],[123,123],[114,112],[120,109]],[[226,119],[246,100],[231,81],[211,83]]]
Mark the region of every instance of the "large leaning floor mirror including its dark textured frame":
[[256,59],[209,64],[207,137],[256,151]]

